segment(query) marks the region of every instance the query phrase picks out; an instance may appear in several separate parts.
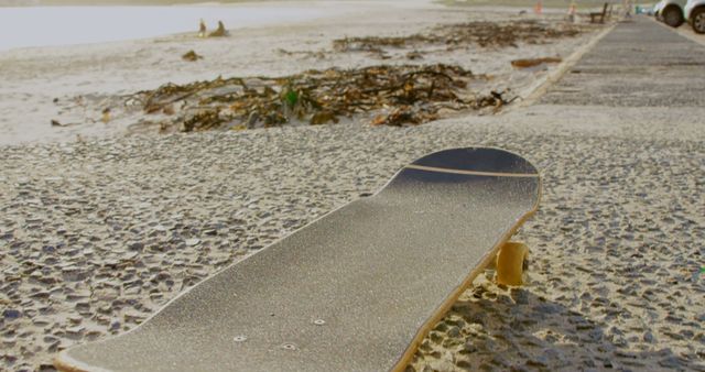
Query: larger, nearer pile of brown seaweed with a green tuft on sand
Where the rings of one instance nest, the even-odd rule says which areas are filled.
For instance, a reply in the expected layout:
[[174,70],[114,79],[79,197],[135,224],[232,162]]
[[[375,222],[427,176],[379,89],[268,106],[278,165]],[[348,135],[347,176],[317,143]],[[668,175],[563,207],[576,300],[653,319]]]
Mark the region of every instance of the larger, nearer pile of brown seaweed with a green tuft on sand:
[[316,125],[365,113],[372,124],[402,125],[435,120],[442,110],[497,110],[508,103],[500,92],[481,96],[468,89],[471,80],[485,78],[445,64],[381,65],[167,84],[130,100],[159,114],[162,131]]

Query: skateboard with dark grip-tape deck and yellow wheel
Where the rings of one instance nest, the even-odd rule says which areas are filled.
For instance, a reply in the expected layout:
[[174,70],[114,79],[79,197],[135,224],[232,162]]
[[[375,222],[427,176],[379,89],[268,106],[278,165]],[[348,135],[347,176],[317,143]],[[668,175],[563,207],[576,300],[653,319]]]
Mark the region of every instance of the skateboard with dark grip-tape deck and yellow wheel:
[[123,335],[62,351],[62,371],[403,371],[473,280],[538,208],[536,168],[513,153],[419,158],[338,208],[181,294]]

